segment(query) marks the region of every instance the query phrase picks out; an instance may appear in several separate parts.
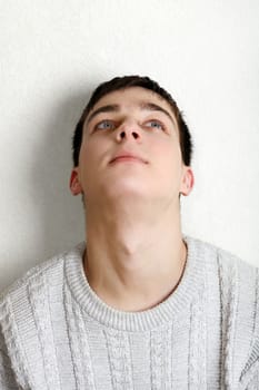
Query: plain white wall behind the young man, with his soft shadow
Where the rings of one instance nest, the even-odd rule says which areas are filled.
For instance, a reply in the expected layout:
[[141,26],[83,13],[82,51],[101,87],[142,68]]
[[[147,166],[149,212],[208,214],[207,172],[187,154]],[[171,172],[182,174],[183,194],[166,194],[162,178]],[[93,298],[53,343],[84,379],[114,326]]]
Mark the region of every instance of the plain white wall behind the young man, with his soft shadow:
[[83,240],[70,140],[93,86],[149,75],[195,137],[183,232],[259,265],[259,1],[1,1],[0,287]]

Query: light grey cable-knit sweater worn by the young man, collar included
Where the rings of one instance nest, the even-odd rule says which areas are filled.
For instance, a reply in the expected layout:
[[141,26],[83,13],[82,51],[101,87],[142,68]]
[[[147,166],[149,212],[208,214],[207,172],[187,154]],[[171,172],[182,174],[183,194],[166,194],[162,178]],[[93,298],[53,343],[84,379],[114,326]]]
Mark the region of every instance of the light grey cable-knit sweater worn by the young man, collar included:
[[0,389],[259,390],[258,269],[185,236],[178,287],[123,312],[92,291],[81,243],[0,296]]

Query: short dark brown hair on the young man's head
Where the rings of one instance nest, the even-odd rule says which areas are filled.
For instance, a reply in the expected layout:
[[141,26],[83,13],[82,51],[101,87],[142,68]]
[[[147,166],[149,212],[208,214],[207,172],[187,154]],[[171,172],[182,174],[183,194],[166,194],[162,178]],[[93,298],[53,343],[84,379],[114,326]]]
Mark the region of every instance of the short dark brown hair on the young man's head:
[[193,145],[192,145],[192,139],[191,139],[189,128],[182,117],[182,113],[179,110],[177,103],[173,100],[171,95],[166,89],[161,88],[157,81],[151,80],[147,76],[146,77],[141,77],[141,76],[114,77],[109,81],[100,84],[93,90],[90,97],[90,100],[88,101],[86,108],[83,109],[82,115],[76,126],[74,134],[72,137],[73,166],[77,167],[79,165],[79,154],[80,154],[80,148],[82,143],[83,125],[90,110],[103,96],[110,92],[113,92],[116,90],[127,89],[130,87],[141,87],[145,89],[149,89],[160,95],[160,97],[162,97],[166,101],[169,103],[172,109],[172,113],[175,114],[177,119],[182,160],[186,166],[190,166]]

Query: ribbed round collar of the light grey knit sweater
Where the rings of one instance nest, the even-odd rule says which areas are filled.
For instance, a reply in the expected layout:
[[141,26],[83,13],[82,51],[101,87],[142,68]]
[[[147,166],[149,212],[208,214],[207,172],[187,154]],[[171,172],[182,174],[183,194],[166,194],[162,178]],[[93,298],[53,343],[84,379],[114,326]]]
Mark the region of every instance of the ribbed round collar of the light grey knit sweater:
[[107,328],[123,331],[148,331],[173,321],[187,310],[203,284],[205,248],[199,240],[183,236],[187,244],[187,263],[177,289],[160,304],[140,312],[124,312],[106,304],[91,289],[86,277],[82,254],[86,243],[80,243],[66,255],[66,280],[72,296],[82,311]]

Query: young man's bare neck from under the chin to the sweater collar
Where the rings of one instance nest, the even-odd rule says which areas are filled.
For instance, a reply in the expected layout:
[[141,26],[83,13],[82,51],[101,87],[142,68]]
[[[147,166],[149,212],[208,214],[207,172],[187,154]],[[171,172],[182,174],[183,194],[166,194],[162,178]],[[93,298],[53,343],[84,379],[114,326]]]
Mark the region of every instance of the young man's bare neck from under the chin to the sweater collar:
[[178,285],[187,250],[179,213],[113,218],[88,215],[84,271],[107,304],[142,311],[162,302]]

